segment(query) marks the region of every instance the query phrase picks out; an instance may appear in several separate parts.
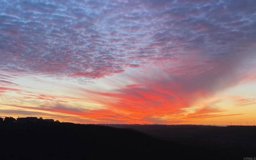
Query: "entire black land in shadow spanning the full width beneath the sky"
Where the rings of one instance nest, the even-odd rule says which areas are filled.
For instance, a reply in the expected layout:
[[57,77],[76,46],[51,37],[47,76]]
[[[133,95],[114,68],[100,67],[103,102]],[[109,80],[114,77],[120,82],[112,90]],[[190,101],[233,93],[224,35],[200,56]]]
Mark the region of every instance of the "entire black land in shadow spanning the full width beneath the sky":
[[115,127],[119,128],[57,122],[0,123],[0,159],[243,160],[256,156],[255,127],[240,126],[228,132],[198,126]]

